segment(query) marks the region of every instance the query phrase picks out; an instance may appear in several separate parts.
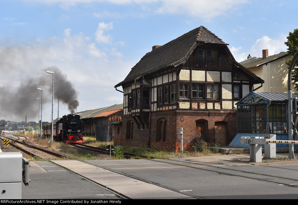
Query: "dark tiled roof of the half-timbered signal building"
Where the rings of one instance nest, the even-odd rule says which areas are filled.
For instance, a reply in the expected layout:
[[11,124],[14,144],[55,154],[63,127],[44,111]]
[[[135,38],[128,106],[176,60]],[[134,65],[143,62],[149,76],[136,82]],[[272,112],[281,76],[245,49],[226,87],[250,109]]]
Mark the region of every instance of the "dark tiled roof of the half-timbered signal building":
[[134,81],[135,78],[156,72],[167,66],[177,66],[184,63],[198,41],[226,44],[207,28],[200,26],[144,55],[131,69],[131,72],[129,72],[126,78],[115,87]]

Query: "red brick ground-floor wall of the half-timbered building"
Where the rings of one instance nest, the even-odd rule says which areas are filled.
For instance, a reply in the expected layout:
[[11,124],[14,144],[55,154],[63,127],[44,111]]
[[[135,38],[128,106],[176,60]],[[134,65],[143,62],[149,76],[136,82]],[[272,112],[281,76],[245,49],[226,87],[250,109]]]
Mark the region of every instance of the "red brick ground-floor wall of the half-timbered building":
[[[156,141],[157,132],[159,131],[158,122],[166,120],[165,141]],[[179,152],[181,147],[180,128],[183,128],[183,150],[190,151],[191,147],[197,142],[196,121],[205,120],[205,141],[216,142],[215,132],[221,135],[221,131],[215,130],[215,122],[223,122],[220,125],[225,126],[226,144],[228,145],[237,134],[237,120],[235,111],[160,111],[151,114],[150,128],[150,146],[165,149],[171,152]],[[122,128],[119,140],[119,145],[132,145],[136,147],[148,146],[148,128],[138,129],[134,125],[133,138],[126,139],[127,123],[133,121],[130,116],[123,116]],[[218,129],[223,129],[220,126]],[[218,126],[217,126],[218,127]],[[115,136],[116,138],[116,136]],[[115,140],[116,141],[116,140]],[[223,146],[223,145],[222,145]]]

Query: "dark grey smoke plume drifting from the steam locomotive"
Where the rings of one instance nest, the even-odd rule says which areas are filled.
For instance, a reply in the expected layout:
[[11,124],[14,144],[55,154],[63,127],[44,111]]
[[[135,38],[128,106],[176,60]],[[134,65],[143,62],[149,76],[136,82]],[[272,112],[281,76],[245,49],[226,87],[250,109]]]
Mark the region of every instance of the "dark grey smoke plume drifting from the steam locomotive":
[[[0,85],[0,115],[10,116],[8,120],[17,118],[21,121],[25,120],[26,115],[33,113],[36,116],[36,121],[38,119],[38,100],[36,97],[41,98],[41,91],[37,88],[43,89],[43,110],[44,106],[52,103],[52,74],[46,73],[47,70],[54,72],[54,109],[59,99],[59,102],[68,106],[71,114],[75,113],[76,107],[79,106],[77,91],[73,87],[72,82],[66,80],[66,74],[54,66],[35,71],[33,73],[34,77],[18,77],[19,79],[17,80],[20,83],[18,87],[14,85]],[[5,117],[2,118],[4,119]],[[30,120],[32,121],[33,119]]]

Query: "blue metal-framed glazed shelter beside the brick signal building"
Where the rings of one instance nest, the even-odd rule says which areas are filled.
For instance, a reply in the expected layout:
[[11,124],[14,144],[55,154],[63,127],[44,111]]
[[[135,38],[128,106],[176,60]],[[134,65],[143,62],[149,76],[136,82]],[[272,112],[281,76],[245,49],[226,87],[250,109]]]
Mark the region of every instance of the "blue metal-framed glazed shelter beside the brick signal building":
[[[292,97],[298,97],[298,94],[292,94]],[[267,122],[270,134],[276,134],[277,140],[288,140],[287,93],[250,92],[236,105],[237,135],[229,146],[249,147],[249,144],[240,144],[241,137],[264,136]],[[276,146],[288,147],[287,144]]]

